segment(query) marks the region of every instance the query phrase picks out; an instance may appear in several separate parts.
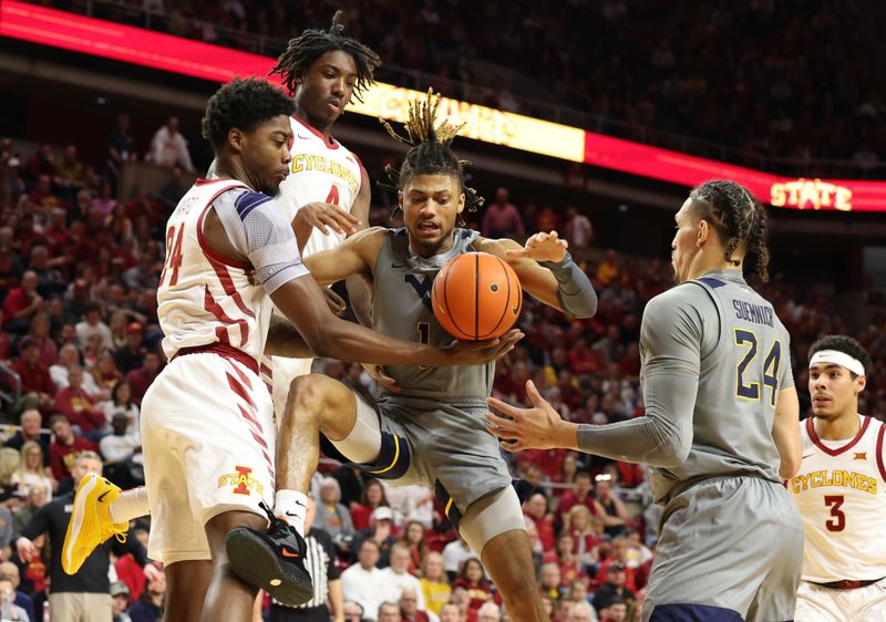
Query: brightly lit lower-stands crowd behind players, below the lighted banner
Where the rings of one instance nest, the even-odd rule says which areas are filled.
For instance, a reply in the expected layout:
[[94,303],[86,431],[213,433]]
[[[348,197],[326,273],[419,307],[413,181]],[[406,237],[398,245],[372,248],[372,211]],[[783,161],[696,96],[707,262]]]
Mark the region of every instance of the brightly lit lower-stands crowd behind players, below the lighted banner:
[[[164,127],[174,132],[173,125],[171,120]],[[45,542],[34,539],[42,557],[31,561],[19,559],[10,542],[37,508],[72,489],[71,468],[82,452],[97,452],[105,475],[124,488],[143,481],[138,405],[164,364],[155,288],[165,219],[186,190],[182,169],[171,168],[168,184],[156,193],[138,189],[117,200],[116,170],[136,151],[125,115],[107,145],[107,162],[89,164],[74,145],[19,153],[12,142],[0,141],[0,404],[4,423],[14,426],[0,449],[0,590],[9,581],[38,603],[50,574]],[[641,416],[640,319],[646,302],[671,286],[669,263],[600,250],[591,220],[575,207],[536,207],[506,188],[486,194],[490,205],[470,215],[470,226],[515,239],[563,231],[599,294],[599,310],[589,320],[526,299],[519,320],[526,339],[497,365],[495,394],[525,404],[525,381],[532,379],[571,421]],[[389,216],[378,206],[372,219],[387,224]],[[853,334],[876,361],[863,412],[884,418],[886,317],[847,325],[832,312],[835,292],[824,281],[803,292],[780,276],[754,284],[791,332],[801,395],[808,344],[824,332]],[[319,364],[329,375],[372,390],[354,363]],[[635,615],[657,525],[646,471],[565,450],[507,459],[515,477],[530,485],[526,526],[553,619],[616,622]],[[430,490],[364,480],[331,463],[321,470],[313,491],[316,527],[332,538],[344,569],[344,598],[362,619],[507,620],[494,585]],[[138,525],[140,540],[148,529]],[[132,554],[115,557],[111,568],[121,615],[115,620],[125,622],[124,611],[136,602],[143,604],[128,613],[134,622],[156,620],[163,581],[146,579]],[[393,613],[385,612],[391,608]]]

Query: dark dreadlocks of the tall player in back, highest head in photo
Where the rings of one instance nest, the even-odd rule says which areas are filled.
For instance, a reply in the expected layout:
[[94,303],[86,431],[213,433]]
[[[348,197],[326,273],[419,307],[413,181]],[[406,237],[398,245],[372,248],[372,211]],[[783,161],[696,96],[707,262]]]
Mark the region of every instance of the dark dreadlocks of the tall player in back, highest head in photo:
[[290,95],[296,94],[298,74],[306,74],[313,61],[334,50],[350,54],[357,65],[357,85],[353,96],[362,102],[362,92],[374,83],[373,73],[381,64],[381,59],[368,45],[357,39],[344,34],[344,25],[340,23],[341,11],[336,11],[332,25],[329,30],[306,30],[295,39],[289,40],[286,52],[277,59],[277,64],[270,70],[284,79],[284,86]]

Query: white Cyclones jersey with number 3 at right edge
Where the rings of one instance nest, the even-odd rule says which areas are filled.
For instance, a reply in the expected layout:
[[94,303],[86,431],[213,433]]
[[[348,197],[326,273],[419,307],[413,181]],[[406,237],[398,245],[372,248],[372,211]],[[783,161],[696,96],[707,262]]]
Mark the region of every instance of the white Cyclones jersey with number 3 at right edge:
[[855,437],[826,440],[814,417],[800,424],[803,460],[787,483],[803,518],[803,580],[816,583],[886,577],[886,425],[858,415]]

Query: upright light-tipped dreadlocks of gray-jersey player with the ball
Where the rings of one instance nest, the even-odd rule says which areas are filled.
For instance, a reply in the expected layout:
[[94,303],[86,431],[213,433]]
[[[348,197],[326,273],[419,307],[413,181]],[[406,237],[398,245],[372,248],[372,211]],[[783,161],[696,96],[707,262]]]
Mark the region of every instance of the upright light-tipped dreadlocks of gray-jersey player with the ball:
[[402,190],[415,175],[446,175],[459,180],[465,196],[465,207],[468,211],[475,211],[486,199],[480,196],[474,188],[465,185],[464,166],[468,162],[459,159],[450,148],[465,124],[453,125],[444,120],[434,127],[440,100],[440,93],[434,93],[433,89],[429,89],[427,96],[409,103],[409,121],[403,125],[406,129],[405,136],[401,136],[391,127],[390,123],[379,118],[394,139],[411,145],[400,170],[395,170],[391,165],[384,167],[388,183],[379,182],[379,186],[391,190]]

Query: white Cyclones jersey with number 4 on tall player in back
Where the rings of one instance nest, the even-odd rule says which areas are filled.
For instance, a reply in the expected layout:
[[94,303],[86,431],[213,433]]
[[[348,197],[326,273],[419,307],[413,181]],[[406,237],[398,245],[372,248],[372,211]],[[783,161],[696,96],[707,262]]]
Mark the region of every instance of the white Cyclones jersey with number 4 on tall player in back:
[[[362,166],[358,157],[341,143],[306,124],[297,116],[290,118],[292,125],[292,155],[290,173],[280,184],[277,201],[282,206],[289,220],[296,217],[298,208],[309,203],[322,201],[338,205],[346,211],[353,207],[362,183]],[[330,231],[324,236],[315,229],[305,246],[302,257],[321,250],[337,248],[344,236]]]

